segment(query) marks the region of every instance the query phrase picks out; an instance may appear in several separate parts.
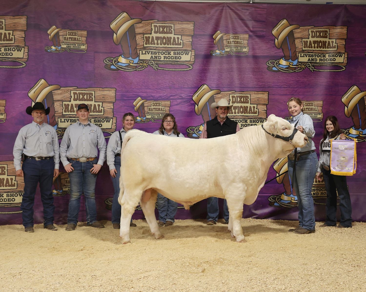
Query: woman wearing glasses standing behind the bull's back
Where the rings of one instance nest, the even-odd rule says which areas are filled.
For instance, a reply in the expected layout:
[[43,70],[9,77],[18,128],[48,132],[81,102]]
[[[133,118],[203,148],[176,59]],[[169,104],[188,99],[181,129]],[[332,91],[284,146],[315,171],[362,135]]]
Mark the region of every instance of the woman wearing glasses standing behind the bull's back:
[[[168,137],[183,137],[177,129],[175,118],[172,114],[165,114],[159,130],[153,132],[153,134],[165,135]],[[159,211],[159,226],[170,226],[174,223],[174,216],[177,212],[178,204],[175,201],[164,197],[158,193],[158,211]]]

